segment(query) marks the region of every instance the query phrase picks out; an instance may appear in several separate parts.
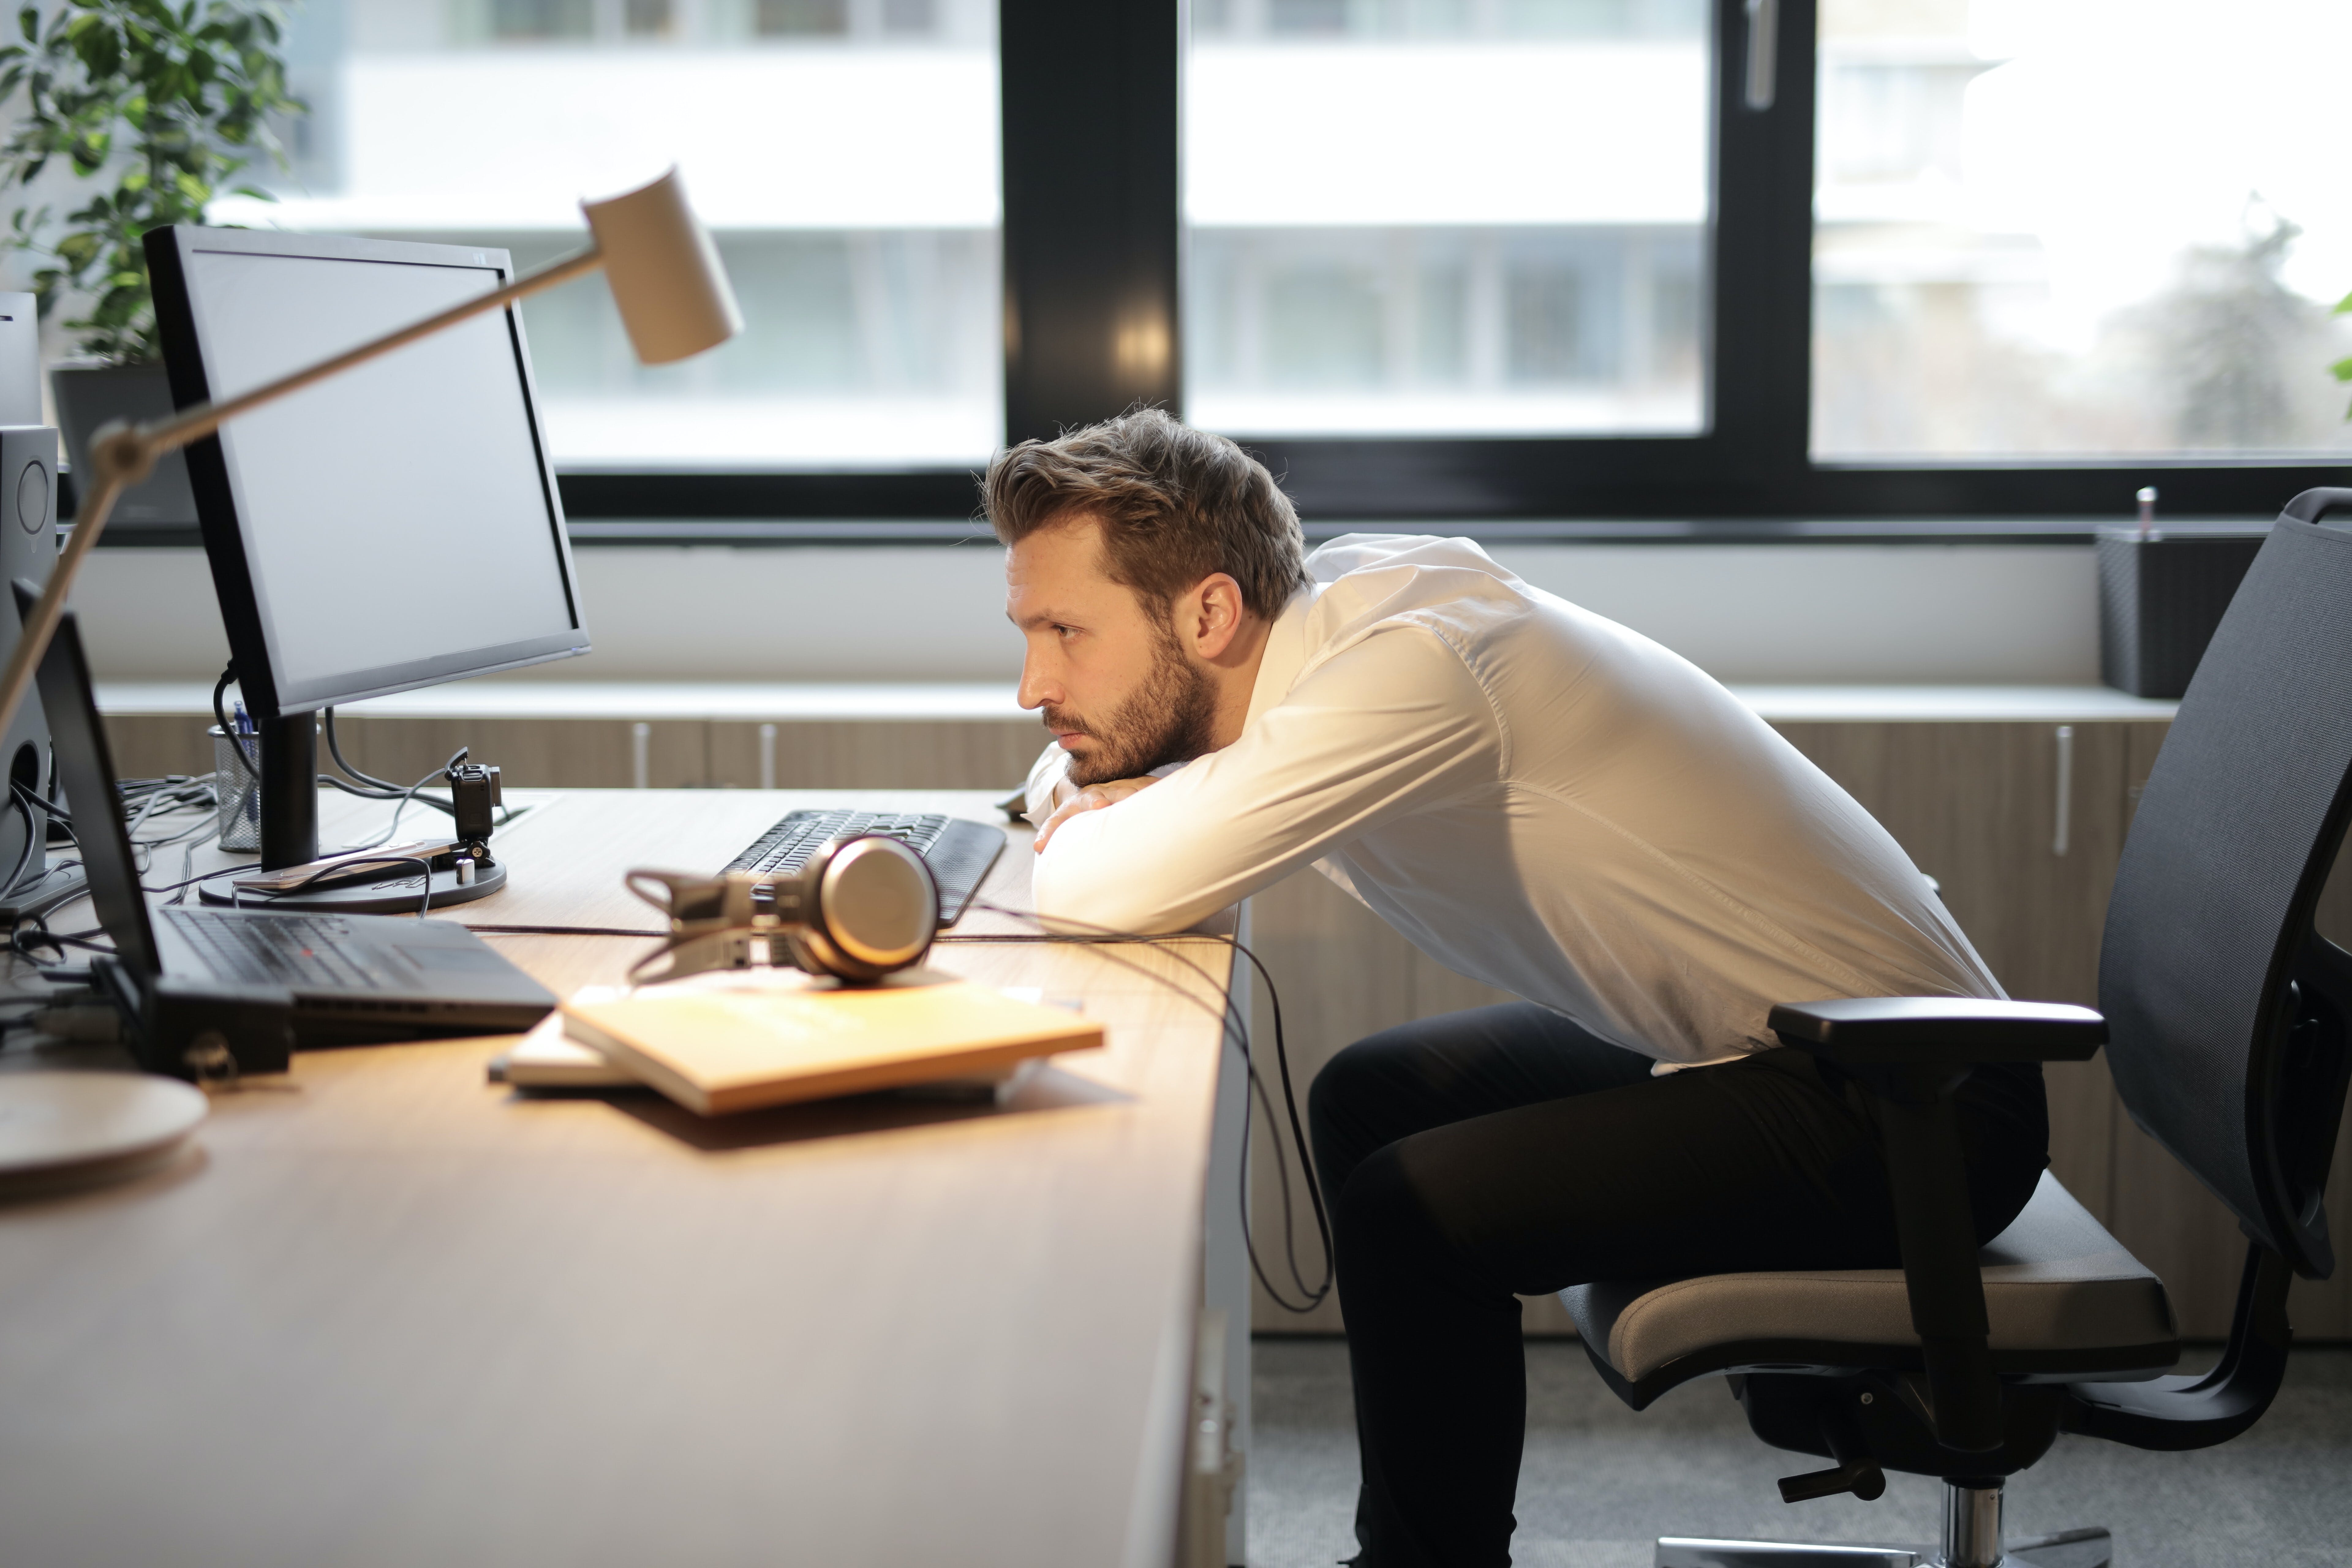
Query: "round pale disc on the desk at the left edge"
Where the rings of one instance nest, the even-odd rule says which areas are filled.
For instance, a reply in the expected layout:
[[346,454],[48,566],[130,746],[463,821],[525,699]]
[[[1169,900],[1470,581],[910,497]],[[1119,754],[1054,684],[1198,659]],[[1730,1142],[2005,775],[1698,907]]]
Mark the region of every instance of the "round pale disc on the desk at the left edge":
[[207,1110],[200,1088],[141,1072],[0,1072],[0,1187],[151,1171]]

